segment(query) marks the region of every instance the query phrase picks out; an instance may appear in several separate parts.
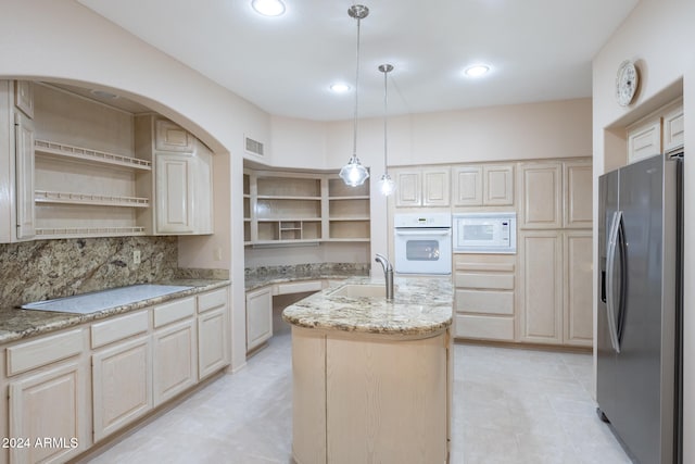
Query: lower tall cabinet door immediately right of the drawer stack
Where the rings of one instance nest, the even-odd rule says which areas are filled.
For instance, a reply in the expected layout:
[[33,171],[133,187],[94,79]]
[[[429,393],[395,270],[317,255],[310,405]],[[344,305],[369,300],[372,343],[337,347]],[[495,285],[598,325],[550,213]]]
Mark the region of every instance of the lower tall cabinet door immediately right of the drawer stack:
[[563,340],[561,233],[528,231],[520,236],[519,337],[533,343]]

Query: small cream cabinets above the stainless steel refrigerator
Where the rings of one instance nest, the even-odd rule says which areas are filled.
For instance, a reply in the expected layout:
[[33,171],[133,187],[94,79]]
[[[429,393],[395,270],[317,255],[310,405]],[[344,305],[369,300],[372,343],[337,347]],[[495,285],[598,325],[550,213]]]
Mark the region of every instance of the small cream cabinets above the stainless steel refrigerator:
[[628,163],[683,149],[683,100],[678,99],[627,127]]

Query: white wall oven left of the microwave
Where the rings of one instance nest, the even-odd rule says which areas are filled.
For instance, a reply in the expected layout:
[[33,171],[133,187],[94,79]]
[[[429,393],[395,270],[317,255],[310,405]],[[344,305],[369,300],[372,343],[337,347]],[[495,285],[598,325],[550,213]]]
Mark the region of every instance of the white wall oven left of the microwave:
[[393,225],[396,273],[452,273],[451,214],[395,214]]

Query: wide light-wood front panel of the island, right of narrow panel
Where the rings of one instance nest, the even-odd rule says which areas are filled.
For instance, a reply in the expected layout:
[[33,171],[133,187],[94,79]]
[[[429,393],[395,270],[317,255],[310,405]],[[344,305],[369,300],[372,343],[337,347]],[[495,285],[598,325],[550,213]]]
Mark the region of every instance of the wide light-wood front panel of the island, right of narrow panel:
[[327,339],[328,463],[446,462],[444,338]]

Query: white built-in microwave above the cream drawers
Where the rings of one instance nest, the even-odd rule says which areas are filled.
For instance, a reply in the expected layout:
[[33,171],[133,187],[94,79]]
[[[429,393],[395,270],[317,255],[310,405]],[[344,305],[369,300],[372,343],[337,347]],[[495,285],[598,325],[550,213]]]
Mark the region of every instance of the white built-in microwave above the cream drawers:
[[462,213],[452,220],[454,252],[517,252],[517,213]]

